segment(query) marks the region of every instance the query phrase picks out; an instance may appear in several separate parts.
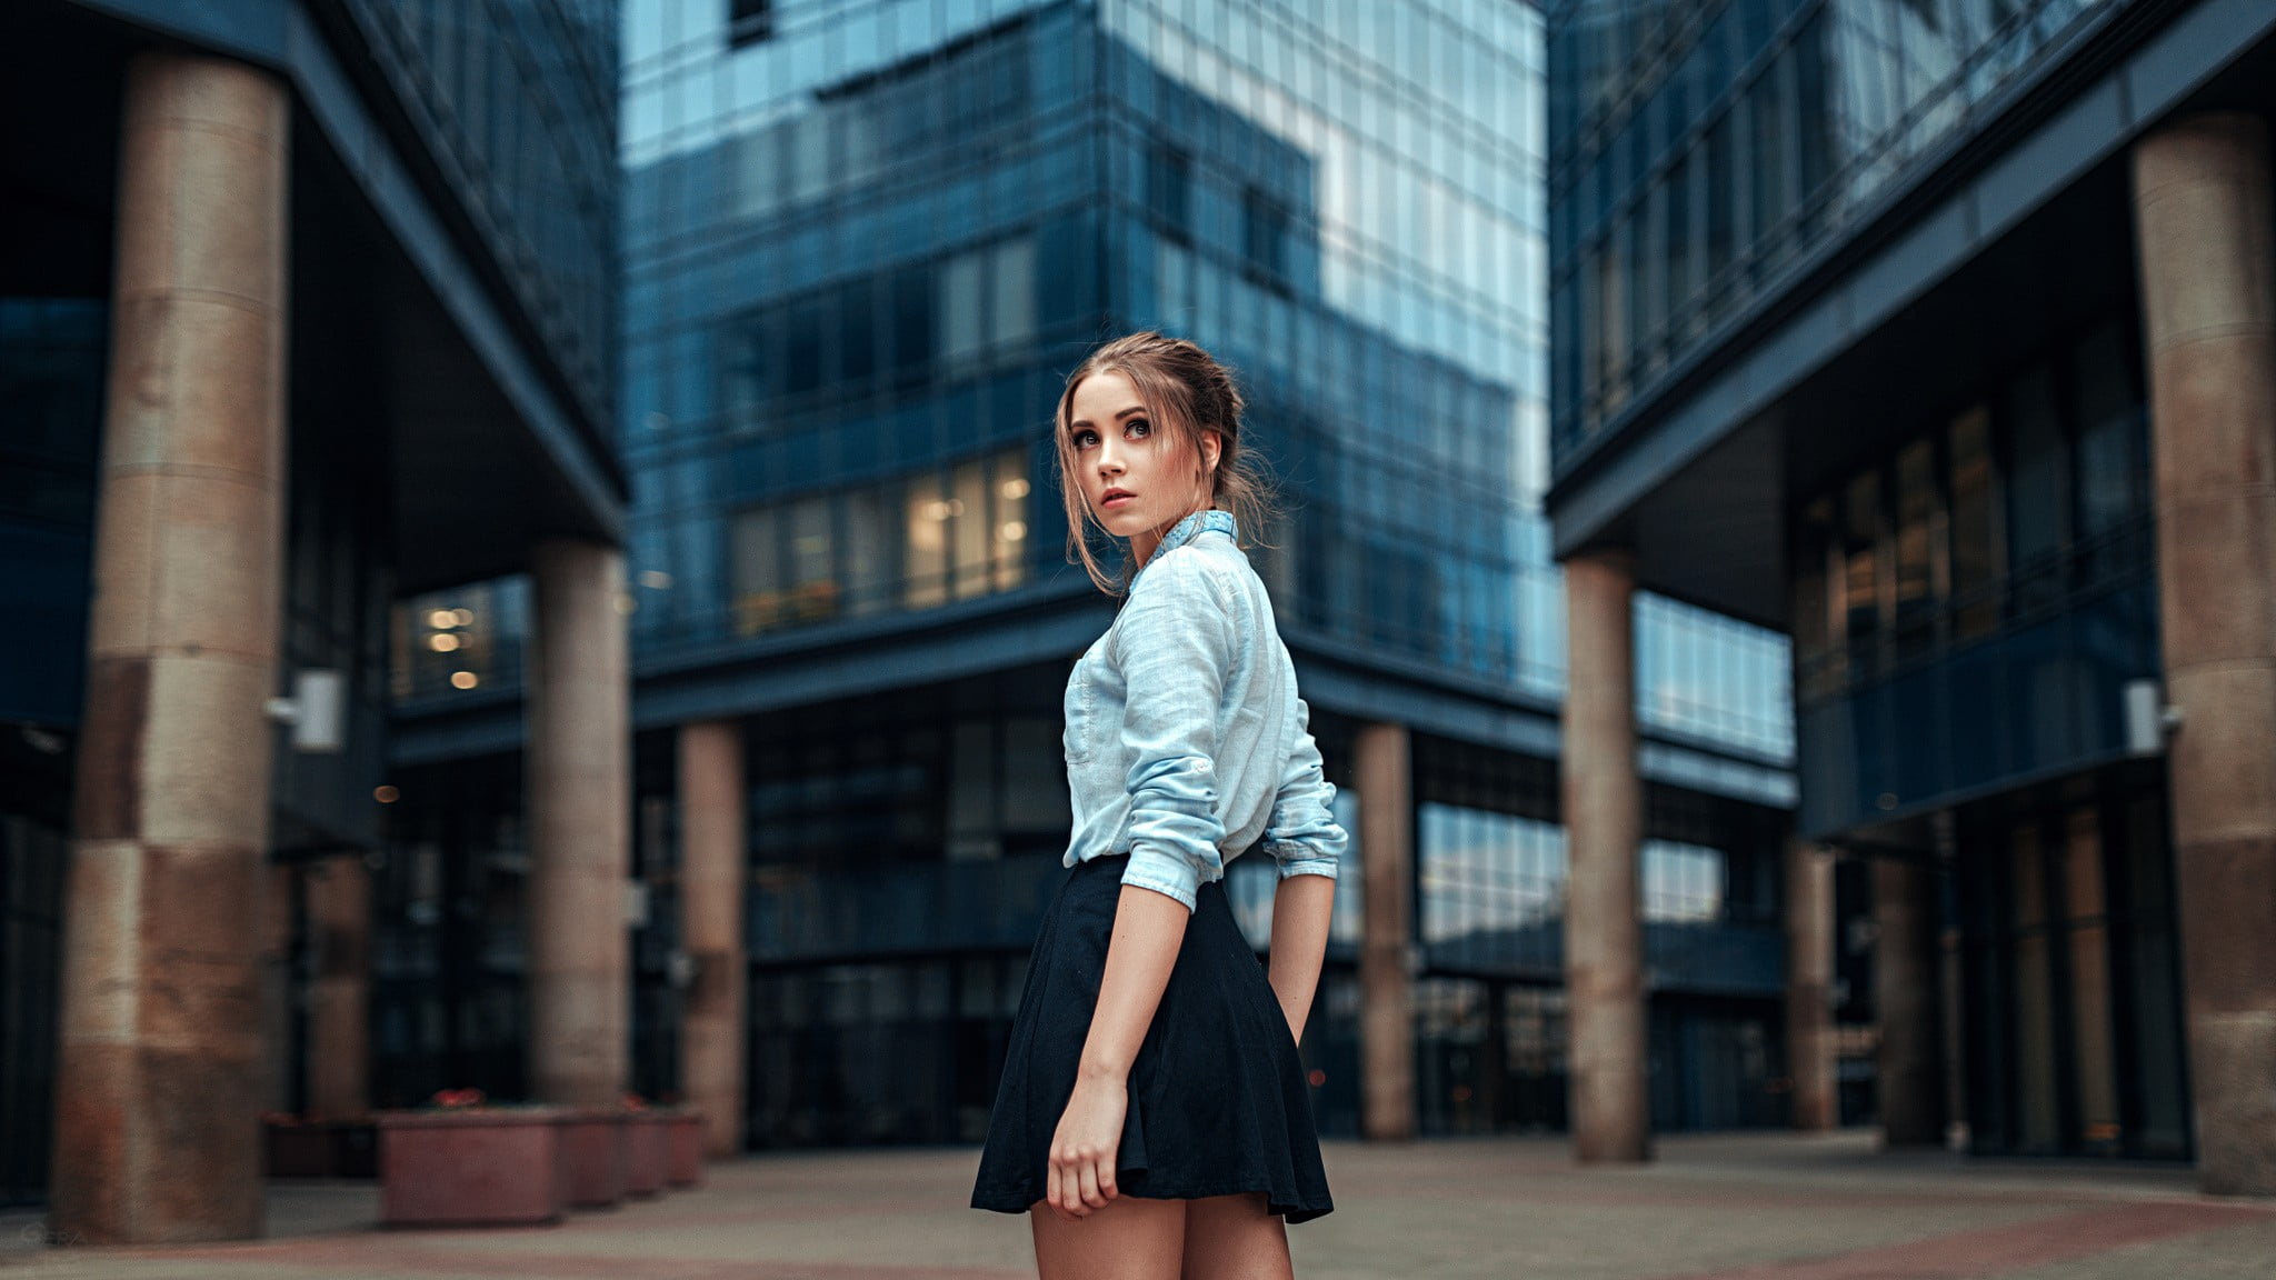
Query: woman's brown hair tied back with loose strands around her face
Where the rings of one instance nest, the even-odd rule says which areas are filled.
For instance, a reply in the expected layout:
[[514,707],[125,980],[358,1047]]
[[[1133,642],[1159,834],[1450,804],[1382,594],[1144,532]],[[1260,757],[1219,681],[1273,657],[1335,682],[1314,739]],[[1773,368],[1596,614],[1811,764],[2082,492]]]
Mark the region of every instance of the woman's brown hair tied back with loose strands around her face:
[[[1195,481],[1209,487],[1206,506],[1231,512],[1240,542],[1256,544],[1256,535],[1277,512],[1270,481],[1240,449],[1240,410],[1247,401],[1234,385],[1234,371],[1184,337],[1145,330],[1092,351],[1067,374],[1067,387],[1058,394],[1052,435],[1058,453],[1058,497],[1067,503],[1067,563],[1081,565],[1106,594],[1129,590],[1129,563],[1124,560],[1120,579],[1111,579],[1090,549],[1088,531],[1104,533],[1106,526],[1074,478],[1074,437],[1067,424],[1074,417],[1074,387],[1092,374],[1122,374],[1131,380],[1154,430],[1163,433],[1179,456],[1193,458]],[[1206,476],[1202,476],[1202,430],[1215,430],[1220,442],[1218,469]]]

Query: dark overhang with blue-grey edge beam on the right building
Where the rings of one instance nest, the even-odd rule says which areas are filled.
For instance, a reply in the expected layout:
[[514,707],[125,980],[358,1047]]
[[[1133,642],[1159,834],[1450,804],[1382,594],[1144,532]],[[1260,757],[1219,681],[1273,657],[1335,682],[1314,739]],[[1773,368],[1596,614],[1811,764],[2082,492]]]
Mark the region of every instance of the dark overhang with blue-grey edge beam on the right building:
[[[1803,255],[1762,301],[1561,458],[1543,499],[1555,553],[1627,547],[1639,588],[1787,629],[1789,494],[1814,469],[1839,465],[1882,410],[1844,396],[1891,385],[1910,394],[1925,389],[1921,378],[1953,383],[1964,364],[2017,342],[2010,319],[2046,323],[2030,294],[2048,280],[2007,269],[2044,264],[2071,244],[2060,237],[2108,246],[2110,219],[2126,219],[2119,162],[2135,137],[2178,109],[2267,107],[2276,7],[2208,0],[2146,34],[2121,20],[2169,7],[2110,9],[1994,102],[1982,125],[1887,191],[1853,232]],[[2117,205],[2042,216],[2096,180],[2101,196],[2117,184]],[[2058,239],[2028,244],[2039,230]],[[2130,287],[2130,241],[2080,276],[2094,271],[2126,273]],[[2023,296],[1998,294],[2001,285]],[[2087,278],[2073,292],[2110,285]],[[2053,287],[2069,289],[2071,273]],[[1907,367],[1914,353],[1935,353],[1939,367]]]

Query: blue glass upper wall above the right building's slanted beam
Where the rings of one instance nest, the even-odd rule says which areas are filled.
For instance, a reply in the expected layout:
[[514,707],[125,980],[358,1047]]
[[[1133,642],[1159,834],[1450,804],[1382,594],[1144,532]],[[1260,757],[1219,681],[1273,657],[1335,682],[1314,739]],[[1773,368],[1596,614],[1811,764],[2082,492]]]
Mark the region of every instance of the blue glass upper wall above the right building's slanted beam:
[[2105,0],[1552,0],[1559,465]]

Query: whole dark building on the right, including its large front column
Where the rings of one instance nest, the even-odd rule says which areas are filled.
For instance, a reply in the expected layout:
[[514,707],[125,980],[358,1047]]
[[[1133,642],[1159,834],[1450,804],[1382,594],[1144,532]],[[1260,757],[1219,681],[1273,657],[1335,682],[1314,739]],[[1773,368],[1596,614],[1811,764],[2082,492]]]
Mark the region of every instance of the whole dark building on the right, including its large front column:
[[1891,1141],[2276,1191],[2271,34],[1548,5],[1557,556],[1791,633]]

